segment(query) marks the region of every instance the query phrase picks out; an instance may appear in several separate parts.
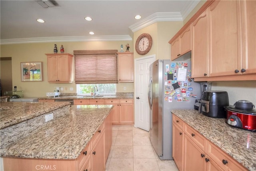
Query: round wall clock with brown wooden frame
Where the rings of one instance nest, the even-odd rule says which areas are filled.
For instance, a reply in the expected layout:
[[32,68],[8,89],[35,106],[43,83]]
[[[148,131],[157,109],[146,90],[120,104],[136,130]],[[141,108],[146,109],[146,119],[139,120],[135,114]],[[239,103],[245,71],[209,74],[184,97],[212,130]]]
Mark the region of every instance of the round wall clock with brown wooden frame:
[[147,34],[141,34],[138,39],[136,40],[135,49],[138,54],[145,55],[150,51],[152,46],[152,37]]

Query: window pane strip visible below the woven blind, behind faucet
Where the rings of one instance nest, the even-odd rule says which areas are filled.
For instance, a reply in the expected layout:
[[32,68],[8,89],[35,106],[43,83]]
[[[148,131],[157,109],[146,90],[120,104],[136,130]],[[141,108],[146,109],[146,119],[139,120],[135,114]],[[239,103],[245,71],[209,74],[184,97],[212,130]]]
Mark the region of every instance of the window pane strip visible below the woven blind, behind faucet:
[[76,84],[78,95],[91,95],[94,92],[94,87],[98,87],[99,95],[115,95],[116,84]]

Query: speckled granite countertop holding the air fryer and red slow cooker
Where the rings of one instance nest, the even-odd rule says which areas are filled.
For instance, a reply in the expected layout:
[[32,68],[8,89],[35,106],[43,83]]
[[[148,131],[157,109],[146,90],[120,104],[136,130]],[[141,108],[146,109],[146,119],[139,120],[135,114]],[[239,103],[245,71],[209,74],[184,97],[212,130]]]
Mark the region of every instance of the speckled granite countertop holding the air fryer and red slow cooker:
[[172,110],[176,116],[251,171],[256,170],[256,133],[231,127],[224,118],[212,118],[197,110]]

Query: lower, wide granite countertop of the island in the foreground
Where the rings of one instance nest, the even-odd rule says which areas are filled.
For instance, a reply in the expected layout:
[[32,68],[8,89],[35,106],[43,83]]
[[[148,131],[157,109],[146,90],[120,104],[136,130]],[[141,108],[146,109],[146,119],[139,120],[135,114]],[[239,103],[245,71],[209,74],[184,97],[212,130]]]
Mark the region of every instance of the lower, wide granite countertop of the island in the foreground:
[[72,105],[69,114],[48,121],[36,133],[31,133],[7,145],[1,149],[0,155],[40,159],[76,159],[112,107],[112,105]]

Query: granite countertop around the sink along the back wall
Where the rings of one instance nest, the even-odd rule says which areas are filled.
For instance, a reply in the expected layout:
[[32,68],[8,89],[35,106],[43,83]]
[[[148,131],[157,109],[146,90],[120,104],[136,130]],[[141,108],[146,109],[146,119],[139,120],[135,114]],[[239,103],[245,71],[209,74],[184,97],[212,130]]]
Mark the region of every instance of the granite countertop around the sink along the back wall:
[[57,96],[57,97],[39,97],[38,99],[63,99],[63,100],[74,100],[74,99],[133,99],[133,95],[104,95],[103,97],[93,97],[86,95],[74,95],[74,96]]

